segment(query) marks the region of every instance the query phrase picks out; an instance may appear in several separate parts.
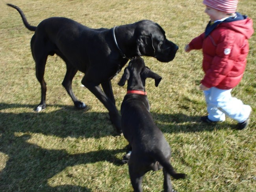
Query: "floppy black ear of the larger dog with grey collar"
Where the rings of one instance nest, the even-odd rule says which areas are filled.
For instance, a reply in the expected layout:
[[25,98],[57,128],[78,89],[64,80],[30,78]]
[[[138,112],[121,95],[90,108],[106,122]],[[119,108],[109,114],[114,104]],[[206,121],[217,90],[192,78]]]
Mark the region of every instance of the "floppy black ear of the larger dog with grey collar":
[[137,54],[140,56],[154,56],[155,51],[152,37],[150,35],[140,35],[137,39]]

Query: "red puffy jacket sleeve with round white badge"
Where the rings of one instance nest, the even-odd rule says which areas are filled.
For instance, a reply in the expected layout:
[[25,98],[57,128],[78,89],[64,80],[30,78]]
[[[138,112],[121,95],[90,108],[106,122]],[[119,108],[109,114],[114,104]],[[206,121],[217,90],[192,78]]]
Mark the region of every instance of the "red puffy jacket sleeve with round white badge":
[[232,70],[240,51],[235,44],[235,38],[235,33],[231,31],[226,31],[221,36],[217,43],[216,55],[201,81],[204,86],[216,87]]

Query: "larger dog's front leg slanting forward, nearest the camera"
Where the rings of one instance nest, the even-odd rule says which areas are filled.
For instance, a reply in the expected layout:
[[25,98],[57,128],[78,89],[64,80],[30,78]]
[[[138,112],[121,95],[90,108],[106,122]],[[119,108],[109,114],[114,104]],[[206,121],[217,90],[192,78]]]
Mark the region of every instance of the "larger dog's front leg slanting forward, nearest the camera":
[[93,83],[88,82],[85,78],[82,79],[82,84],[89,89],[95,96],[103,103],[103,105],[109,111],[109,117],[111,122],[114,124],[117,132],[120,134],[122,131],[121,129],[121,116],[119,115],[115,104],[112,102],[111,99],[100,89],[99,85],[93,85]]

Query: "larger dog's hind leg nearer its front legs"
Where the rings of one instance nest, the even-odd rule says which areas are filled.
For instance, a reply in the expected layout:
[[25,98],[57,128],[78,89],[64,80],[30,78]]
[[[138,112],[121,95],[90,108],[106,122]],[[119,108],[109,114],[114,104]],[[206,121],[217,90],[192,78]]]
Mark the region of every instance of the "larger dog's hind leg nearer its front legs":
[[[65,61],[65,59],[63,60]],[[69,65],[67,61],[65,62],[67,65],[67,72],[66,72],[65,78],[63,79],[62,85],[67,90],[67,93],[69,94],[72,101],[74,102],[75,107],[78,109],[85,109],[87,106],[83,102],[80,102],[74,95],[74,92],[72,91],[72,80],[78,70],[73,66]]]

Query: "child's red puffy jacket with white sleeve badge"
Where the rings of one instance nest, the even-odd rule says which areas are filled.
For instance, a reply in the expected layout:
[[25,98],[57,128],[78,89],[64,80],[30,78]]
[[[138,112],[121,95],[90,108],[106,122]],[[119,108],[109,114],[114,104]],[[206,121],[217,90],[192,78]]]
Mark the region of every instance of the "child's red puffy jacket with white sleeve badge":
[[232,89],[241,81],[252,36],[252,20],[245,18],[220,23],[205,38],[202,33],[189,43],[191,49],[202,49],[205,73],[201,83],[206,87]]

